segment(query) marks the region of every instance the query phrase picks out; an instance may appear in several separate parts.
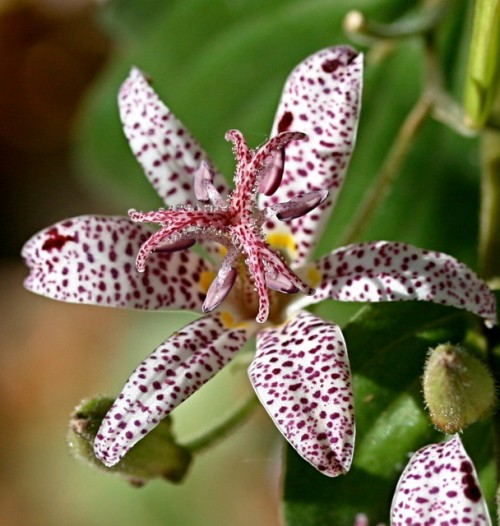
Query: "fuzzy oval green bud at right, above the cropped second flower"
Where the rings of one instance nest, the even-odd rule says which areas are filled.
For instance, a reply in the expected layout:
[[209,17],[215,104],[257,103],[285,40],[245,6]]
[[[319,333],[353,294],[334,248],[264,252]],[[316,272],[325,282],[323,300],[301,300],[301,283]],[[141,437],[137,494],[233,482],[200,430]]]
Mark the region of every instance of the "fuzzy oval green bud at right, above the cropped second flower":
[[429,352],[423,389],[433,424],[448,434],[480,420],[495,402],[495,385],[485,364],[448,343]]

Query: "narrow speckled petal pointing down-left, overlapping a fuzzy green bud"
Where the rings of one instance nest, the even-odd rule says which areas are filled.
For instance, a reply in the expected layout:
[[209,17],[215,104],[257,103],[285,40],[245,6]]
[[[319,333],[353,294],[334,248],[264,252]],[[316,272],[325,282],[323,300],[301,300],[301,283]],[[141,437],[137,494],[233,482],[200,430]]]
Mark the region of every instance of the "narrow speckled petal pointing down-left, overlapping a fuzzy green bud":
[[204,316],[160,345],[132,373],[97,433],[95,454],[107,466],[212,378],[246,342],[252,324],[229,313]]

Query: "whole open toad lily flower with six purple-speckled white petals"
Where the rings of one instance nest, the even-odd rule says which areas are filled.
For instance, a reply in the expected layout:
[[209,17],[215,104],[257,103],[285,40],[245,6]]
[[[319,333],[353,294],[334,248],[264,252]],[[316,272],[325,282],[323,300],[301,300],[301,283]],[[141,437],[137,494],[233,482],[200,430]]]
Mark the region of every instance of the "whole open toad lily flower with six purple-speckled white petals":
[[[228,132],[238,162],[232,192],[144,76],[133,70],[124,83],[125,134],[167,208],[63,221],[23,251],[34,292],[205,313],[130,376],[96,438],[105,464],[118,462],[255,335],[249,376],[257,396],[299,454],[336,476],[349,469],[354,445],[349,362],[340,328],[304,307],[328,298],[426,300],[495,318],[486,285],[445,254],[380,241],[309,262],[354,146],[361,77],[362,57],[348,47],[299,64],[268,142],[253,151],[240,132]],[[198,252],[187,250],[195,243]]]

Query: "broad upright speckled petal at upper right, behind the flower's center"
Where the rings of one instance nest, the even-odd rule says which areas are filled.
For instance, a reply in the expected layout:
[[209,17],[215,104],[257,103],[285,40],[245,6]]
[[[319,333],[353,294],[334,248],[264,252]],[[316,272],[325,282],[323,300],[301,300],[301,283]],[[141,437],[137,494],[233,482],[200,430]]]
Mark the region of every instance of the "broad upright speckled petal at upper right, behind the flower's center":
[[[329,190],[329,199],[317,210],[290,225],[298,243],[294,264],[306,261],[342,187],[356,139],[362,74],[363,56],[338,46],[299,64],[285,84],[272,135],[293,130],[304,132],[308,139],[287,145],[281,185],[272,197],[261,195],[262,204]],[[267,227],[287,231],[275,220],[268,221]]]

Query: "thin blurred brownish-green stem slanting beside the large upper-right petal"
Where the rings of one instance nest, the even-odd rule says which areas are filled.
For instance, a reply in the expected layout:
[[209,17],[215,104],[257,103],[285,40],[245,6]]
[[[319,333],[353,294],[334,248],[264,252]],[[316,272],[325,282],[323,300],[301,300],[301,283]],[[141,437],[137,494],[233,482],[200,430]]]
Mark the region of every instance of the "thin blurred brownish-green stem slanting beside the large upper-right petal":
[[369,223],[372,215],[376,212],[396,179],[410,147],[413,145],[422,125],[429,117],[431,110],[432,100],[426,93],[423,93],[399,129],[381,170],[358,208],[357,214],[348,230],[342,237],[341,246],[356,241],[362,230]]

